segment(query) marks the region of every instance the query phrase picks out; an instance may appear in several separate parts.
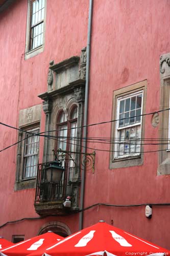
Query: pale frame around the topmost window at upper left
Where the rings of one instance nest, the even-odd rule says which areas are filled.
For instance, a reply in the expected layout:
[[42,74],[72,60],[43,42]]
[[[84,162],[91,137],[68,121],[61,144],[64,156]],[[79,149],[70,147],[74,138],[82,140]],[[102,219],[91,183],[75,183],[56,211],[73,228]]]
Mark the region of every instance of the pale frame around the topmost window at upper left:
[[[36,0],[35,0],[36,1]],[[27,12],[27,32],[26,32],[26,48],[25,48],[25,59],[29,59],[44,50],[44,42],[45,42],[45,23],[46,23],[46,0],[44,0],[44,19],[43,19],[43,39],[42,45],[37,48],[30,49],[30,33],[31,33],[31,19],[32,19],[32,3],[35,2],[32,0],[28,0],[28,12]]]

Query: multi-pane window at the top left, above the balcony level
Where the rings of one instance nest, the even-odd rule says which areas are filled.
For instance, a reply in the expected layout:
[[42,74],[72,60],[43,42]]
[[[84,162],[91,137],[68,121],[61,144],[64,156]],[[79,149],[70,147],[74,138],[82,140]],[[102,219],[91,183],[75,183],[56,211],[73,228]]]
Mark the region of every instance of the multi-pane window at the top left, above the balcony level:
[[31,1],[30,50],[43,43],[44,0]]

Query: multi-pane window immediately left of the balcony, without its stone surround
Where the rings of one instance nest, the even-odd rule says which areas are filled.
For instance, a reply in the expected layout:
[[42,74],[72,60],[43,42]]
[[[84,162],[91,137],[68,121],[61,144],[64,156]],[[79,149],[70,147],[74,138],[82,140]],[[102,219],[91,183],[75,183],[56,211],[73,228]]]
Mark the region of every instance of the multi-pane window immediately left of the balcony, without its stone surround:
[[[32,129],[28,132],[37,134],[39,129]],[[37,175],[39,136],[26,134],[23,153],[23,179],[33,178]]]

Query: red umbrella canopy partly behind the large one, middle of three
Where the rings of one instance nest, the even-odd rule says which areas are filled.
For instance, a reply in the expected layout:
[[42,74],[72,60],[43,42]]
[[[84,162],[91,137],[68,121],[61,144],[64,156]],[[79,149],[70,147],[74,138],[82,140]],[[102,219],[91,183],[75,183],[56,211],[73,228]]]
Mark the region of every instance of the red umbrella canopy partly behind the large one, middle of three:
[[25,256],[39,248],[45,249],[52,243],[59,242],[63,237],[58,236],[53,232],[46,232],[40,236],[30,238],[20,243],[9,246],[5,249],[0,250],[2,256]]

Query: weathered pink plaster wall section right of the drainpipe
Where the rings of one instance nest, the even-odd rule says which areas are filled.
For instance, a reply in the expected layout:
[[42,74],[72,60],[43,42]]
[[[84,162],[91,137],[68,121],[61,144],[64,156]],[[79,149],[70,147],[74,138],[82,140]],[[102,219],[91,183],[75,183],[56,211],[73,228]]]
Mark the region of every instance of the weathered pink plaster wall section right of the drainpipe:
[[[168,1],[94,0],[88,123],[112,119],[113,91],[147,79],[146,113],[159,110],[159,57],[170,51]],[[96,99],[98,99],[96,101]],[[100,103],[99,103],[100,102]],[[145,138],[159,138],[152,115],[145,117]],[[90,126],[88,137],[110,138],[111,123]],[[157,176],[158,153],[145,153],[141,166],[109,169],[109,144],[88,143],[96,150],[94,174],[86,173],[85,207],[95,203],[167,203],[169,176]],[[144,151],[158,146],[144,145]],[[104,152],[106,150],[106,152]],[[90,152],[91,150],[89,150]],[[91,196],[93,195],[93,196]],[[153,218],[141,207],[99,206],[86,211],[85,225],[105,219],[152,242],[169,247],[170,206],[153,206]],[[91,218],[89,219],[89,214]]]

